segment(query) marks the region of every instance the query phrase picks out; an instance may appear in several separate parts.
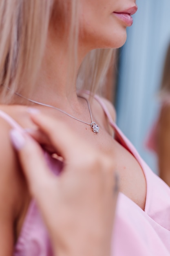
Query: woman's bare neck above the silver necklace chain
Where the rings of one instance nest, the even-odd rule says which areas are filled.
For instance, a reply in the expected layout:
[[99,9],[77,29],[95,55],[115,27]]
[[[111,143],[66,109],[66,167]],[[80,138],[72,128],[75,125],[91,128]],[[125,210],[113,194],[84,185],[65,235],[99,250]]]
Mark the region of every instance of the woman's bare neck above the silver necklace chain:
[[[76,105],[79,99],[76,94],[76,77],[72,74],[77,74],[86,52],[79,50],[77,66],[73,67],[70,65],[69,47],[64,43],[67,40],[55,37],[49,30],[45,54],[31,98],[53,106]],[[26,89],[21,94],[29,97]]]

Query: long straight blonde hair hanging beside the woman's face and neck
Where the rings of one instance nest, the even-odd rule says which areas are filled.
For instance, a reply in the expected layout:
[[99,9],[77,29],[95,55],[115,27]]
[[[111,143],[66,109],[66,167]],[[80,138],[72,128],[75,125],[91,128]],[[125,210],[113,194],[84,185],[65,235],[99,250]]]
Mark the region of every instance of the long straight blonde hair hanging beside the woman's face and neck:
[[[77,0],[71,1],[71,63],[73,58],[76,62],[78,41],[76,3]],[[42,63],[52,8],[53,0],[0,0],[1,103],[9,103],[23,86],[33,87]],[[112,55],[113,49],[90,52],[79,69],[78,87],[95,92],[104,83]]]

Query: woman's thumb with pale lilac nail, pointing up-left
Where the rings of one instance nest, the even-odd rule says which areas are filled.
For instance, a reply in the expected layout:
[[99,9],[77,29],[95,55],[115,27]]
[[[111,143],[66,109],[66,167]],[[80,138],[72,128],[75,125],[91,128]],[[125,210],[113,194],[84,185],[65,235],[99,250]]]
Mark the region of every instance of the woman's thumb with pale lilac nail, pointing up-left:
[[10,139],[18,153],[30,191],[35,198],[40,199],[44,186],[50,187],[56,178],[46,165],[42,148],[29,135],[18,130],[10,131]]

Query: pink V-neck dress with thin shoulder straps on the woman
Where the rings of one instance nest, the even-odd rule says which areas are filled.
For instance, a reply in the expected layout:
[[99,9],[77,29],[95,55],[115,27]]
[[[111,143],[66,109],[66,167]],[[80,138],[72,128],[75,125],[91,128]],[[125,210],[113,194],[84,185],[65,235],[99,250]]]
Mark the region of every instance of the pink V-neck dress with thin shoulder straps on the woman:
[[[147,182],[144,211],[126,195],[119,193],[111,256],[170,256],[170,188],[141,159],[134,146],[113,122],[101,99],[97,96],[95,99],[101,104],[115,130],[115,139],[137,159]],[[2,111],[0,117],[14,128],[22,129]],[[60,171],[60,162],[54,161],[48,154],[46,159],[53,171]],[[14,256],[53,256],[48,232],[34,200],[15,245]]]

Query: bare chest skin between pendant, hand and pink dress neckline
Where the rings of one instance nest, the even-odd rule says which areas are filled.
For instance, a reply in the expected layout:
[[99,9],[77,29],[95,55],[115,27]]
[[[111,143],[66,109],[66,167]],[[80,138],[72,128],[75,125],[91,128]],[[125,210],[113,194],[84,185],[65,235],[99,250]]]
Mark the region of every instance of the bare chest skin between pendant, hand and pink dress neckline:
[[86,140],[89,141],[89,145],[93,144],[113,158],[115,165],[113,168],[119,174],[120,191],[144,210],[146,178],[137,159],[105,130],[101,129],[97,135],[91,132]]

